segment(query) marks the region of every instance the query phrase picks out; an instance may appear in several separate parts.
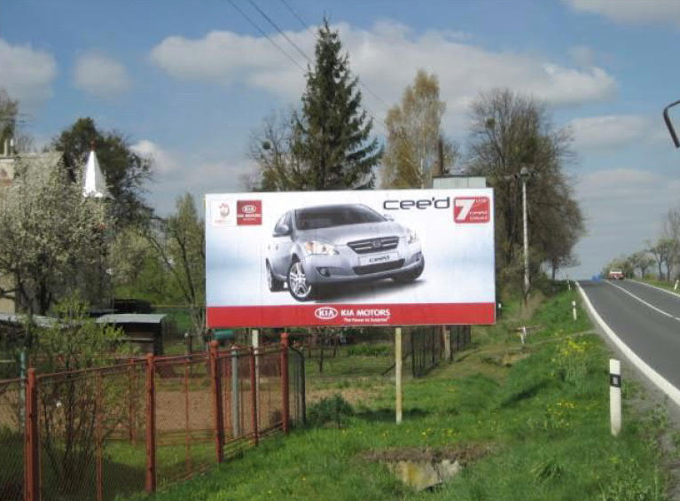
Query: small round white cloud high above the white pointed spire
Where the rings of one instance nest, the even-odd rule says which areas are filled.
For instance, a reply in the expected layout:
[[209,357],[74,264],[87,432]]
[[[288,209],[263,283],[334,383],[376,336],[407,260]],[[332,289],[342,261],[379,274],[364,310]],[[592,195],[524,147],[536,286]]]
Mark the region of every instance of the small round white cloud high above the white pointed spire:
[[98,53],[84,54],[74,68],[75,86],[98,98],[113,98],[129,90],[128,71],[115,59]]

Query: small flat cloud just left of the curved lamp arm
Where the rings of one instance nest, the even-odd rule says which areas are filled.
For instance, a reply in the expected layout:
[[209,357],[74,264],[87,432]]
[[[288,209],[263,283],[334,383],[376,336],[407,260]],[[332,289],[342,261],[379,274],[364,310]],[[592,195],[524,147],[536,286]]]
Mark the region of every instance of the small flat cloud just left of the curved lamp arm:
[[580,150],[598,150],[635,144],[650,139],[649,119],[638,115],[605,115],[577,118],[569,122],[574,145]]

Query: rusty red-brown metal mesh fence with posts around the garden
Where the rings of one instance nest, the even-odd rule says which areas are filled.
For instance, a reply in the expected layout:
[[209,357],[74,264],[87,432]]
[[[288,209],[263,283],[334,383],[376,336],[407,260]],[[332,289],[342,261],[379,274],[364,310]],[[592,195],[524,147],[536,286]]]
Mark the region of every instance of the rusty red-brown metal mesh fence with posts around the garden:
[[0,499],[113,500],[191,478],[304,421],[281,345],[0,381]]

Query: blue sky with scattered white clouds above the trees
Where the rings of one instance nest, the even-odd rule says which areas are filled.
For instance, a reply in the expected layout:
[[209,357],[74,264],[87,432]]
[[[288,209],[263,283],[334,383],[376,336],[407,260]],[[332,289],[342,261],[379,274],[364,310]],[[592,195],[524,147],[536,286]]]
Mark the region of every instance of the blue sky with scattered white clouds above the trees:
[[443,131],[464,151],[470,103],[499,87],[572,130],[565,172],[588,233],[570,277],[643,249],[680,205],[661,119],[680,99],[670,0],[0,0],[0,87],[36,145],[84,116],[128,137],[153,157],[145,197],[167,215],[184,192],[242,190],[254,131],[300,103],[324,15],[381,140],[418,69],[439,78]]

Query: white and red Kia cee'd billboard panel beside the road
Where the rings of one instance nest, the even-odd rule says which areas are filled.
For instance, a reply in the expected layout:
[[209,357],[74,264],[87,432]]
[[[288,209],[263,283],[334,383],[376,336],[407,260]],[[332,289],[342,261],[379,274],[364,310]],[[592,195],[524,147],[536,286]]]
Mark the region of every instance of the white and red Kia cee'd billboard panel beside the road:
[[493,324],[489,188],[206,196],[207,326]]

